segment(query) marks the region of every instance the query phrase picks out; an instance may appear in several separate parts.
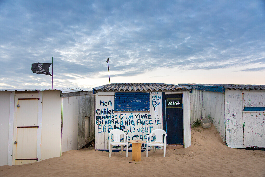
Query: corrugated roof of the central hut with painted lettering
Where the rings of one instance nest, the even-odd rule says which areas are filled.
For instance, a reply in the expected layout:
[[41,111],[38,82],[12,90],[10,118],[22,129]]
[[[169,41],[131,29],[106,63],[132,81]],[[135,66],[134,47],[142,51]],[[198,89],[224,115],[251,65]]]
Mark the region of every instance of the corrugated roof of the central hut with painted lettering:
[[96,91],[192,91],[192,87],[165,83],[111,83],[93,88]]

